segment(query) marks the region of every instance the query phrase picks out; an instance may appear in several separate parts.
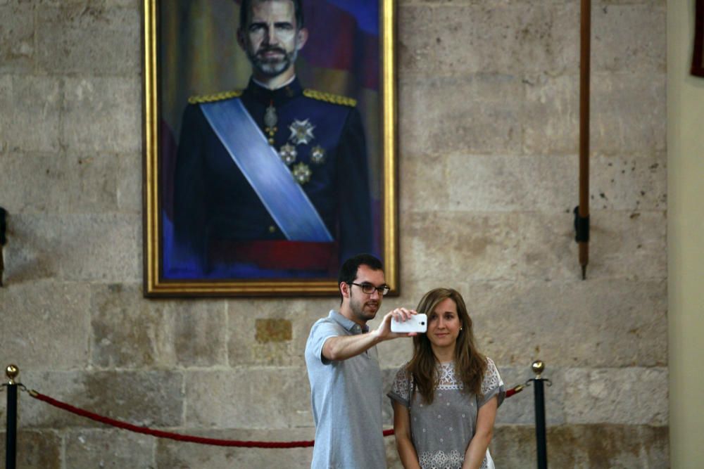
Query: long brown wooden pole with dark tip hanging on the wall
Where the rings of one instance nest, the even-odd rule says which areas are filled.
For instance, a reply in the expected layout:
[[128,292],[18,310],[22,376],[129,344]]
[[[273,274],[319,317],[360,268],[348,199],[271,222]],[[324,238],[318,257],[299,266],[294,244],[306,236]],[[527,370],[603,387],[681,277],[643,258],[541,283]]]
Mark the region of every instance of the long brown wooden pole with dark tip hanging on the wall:
[[579,53],[579,207],[574,210],[582,280],[589,264],[589,80],[591,75],[591,0],[582,0]]

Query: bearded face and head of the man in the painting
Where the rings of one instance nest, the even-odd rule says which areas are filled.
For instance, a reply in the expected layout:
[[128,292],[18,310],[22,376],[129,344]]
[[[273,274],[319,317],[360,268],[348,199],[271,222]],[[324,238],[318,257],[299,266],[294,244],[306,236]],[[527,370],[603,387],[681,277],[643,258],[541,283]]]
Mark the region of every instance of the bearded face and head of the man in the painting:
[[253,1],[246,30],[238,34],[239,44],[247,54],[256,75],[277,77],[289,70],[308,32],[296,25],[291,0]]

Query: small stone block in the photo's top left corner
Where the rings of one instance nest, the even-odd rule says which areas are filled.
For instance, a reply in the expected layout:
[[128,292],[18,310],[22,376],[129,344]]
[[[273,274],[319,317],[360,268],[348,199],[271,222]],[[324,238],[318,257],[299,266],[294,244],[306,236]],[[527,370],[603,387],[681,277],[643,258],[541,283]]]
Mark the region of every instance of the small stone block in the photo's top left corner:
[[27,4],[0,2],[0,73],[24,73],[32,69],[34,16]]

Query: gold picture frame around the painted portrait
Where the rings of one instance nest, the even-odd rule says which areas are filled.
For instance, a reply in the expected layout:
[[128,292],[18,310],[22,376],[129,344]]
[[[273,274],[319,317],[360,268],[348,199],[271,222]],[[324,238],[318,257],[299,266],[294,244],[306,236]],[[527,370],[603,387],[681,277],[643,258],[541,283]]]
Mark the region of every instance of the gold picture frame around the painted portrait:
[[[208,4],[209,0],[204,0]],[[308,4],[320,4],[337,8],[334,0],[307,0]],[[165,274],[165,258],[168,238],[168,210],[169,200],[165,195],[168,184],[170,162],[165,161],[165,152],[170,146],[177,145],[175,136],[170,144],[166,138],[170,129],[165,125],[164,113],[165,99],[171,103],[177,102],[173,96],[182,96],[183,91],[175,92],[169,83],[165,82],[163,63],[165,57],[173,55],[170,47],[176,44],[172,37],[167,40],[163,34],[180,34],[180,27],[166,24],[165,12],[176,4],[177,1],[165,2],[160,0],[144,0],[143,31],[144,31],[144,295],[146,297],[238,297],[238,296],[329,296],[338,295],[337,274],[327,276],[313,276],[311,278],[289,278],[287,276],[258,277],[258,276],[225,276],[212,278],[210,276],[191,276],[187,278],[173,278]],[[197,0],[183,2],[183,8],[196,8]],[[217,4],[218,2],[212,2]],[[220,2],[222,3],[222,2]],[[239,3],[239,2],[238,2]],[[236,5],[233,2],[230,4]],[[376,191],[375,201],[375,246],[377,252],[372,252],[382,258],[386,283],[391,288],[392,295],[398,295],[398,181],[397,181],[397,139],[396,139],[396,8],[394,0],[360,0],[370,8],[377,8],[377,41],[378,41],[378,74],[377,75],[377,110],[369,112],[371,122],[377,122],[378,128],[372,129],[375,134],[376,152],[375,164],[369,165],[370,179],[376,181],[376,186],[370,186],[370,191]],[[331,7],[331,8],[332,8]],[[167,8],[167,10],[162,10]],[[210,8],[207,6],[206,8]],[[237,8],[237,7],[236,7]],[[325,11],[318,8],[315,11]],[[192,12],[189,12],[192,13]],[[345,13],[345,12],[343,12]],[[178,18],[196,18],[195,14],[172,15]],[[320,20],[320,18],[319,18]],[[349,20],[349,18],[347,18]],[[222,23],[222,18],[218,19]],[[373,21],[372,21],[373,23]],[[237,23],[232,23],[232,29],[237,29]],[[176,32],[176,33],[175,33]],[[219,34],[209,36],[219,37]],[[199,54],[196,54],[199,56]],[[203,54],[204,55],[204,54]],[[299,60],[301,60],[299,58]],[[297,62],[298,64],[298,62]],[[197,65],[195,65],[197,66]],[[299,74],[300,70],[296,69]],[[241,71],[239,75],[241,75]],[[312,72],[311,72],[312,73]],[[322,73],[322,72],[321,72]],[[335,73],[338,73],[336,70]],[[168,74],[168,78],[173,73]],[[196,74],[197,75],[197,74]],[[237,74],[235,74],[237,75]],[[313,74],[314,75],[314,74]],[[309,76],[313,76],[310,75]],[[354,76],[354,75],[353,75]],[[361,81],[358,80],[358,81]],[[240,83],[239,86],[245,86]],[[206,86],[207,88],[207,86]],[[193,91],[191,89],[187,91]],[[197,89],[199,92],[212,93],[212,89]],[[324,93],[334,93],[337,90],[322,89]],[[337,96],[337,95],[336,95]],[[357,98],[357,96],[353,96]],[[186,102],[181,98],[182,105]],[[177,105],[171,105],[172,108]],[[174,115],[173,111],[171,115]],[[173,118],[172,118],[173,120]],[[366,122],[366,121],[365,121]],[[175,124],[173,127],[176,127]],[[368,130],[368,129],[367,129]],[[175,150],[173,150],[175,152]],[[169,157],[171,158],[171,157]],[[381,172],[382,174],[378,174]],[[349,194],[352,196],[353,194]]]

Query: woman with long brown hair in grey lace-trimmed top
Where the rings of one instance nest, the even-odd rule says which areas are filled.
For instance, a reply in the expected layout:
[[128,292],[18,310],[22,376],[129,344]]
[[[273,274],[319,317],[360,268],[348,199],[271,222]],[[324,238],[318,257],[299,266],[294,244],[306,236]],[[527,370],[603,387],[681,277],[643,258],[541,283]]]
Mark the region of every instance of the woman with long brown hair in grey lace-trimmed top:
[[505,397],[496,365],[477,350],[457,290],[429,291],[417,311],[428,316],[427,333],[413,338],[413,358],[388,394],[403,467],[492,469],[489,442]]

